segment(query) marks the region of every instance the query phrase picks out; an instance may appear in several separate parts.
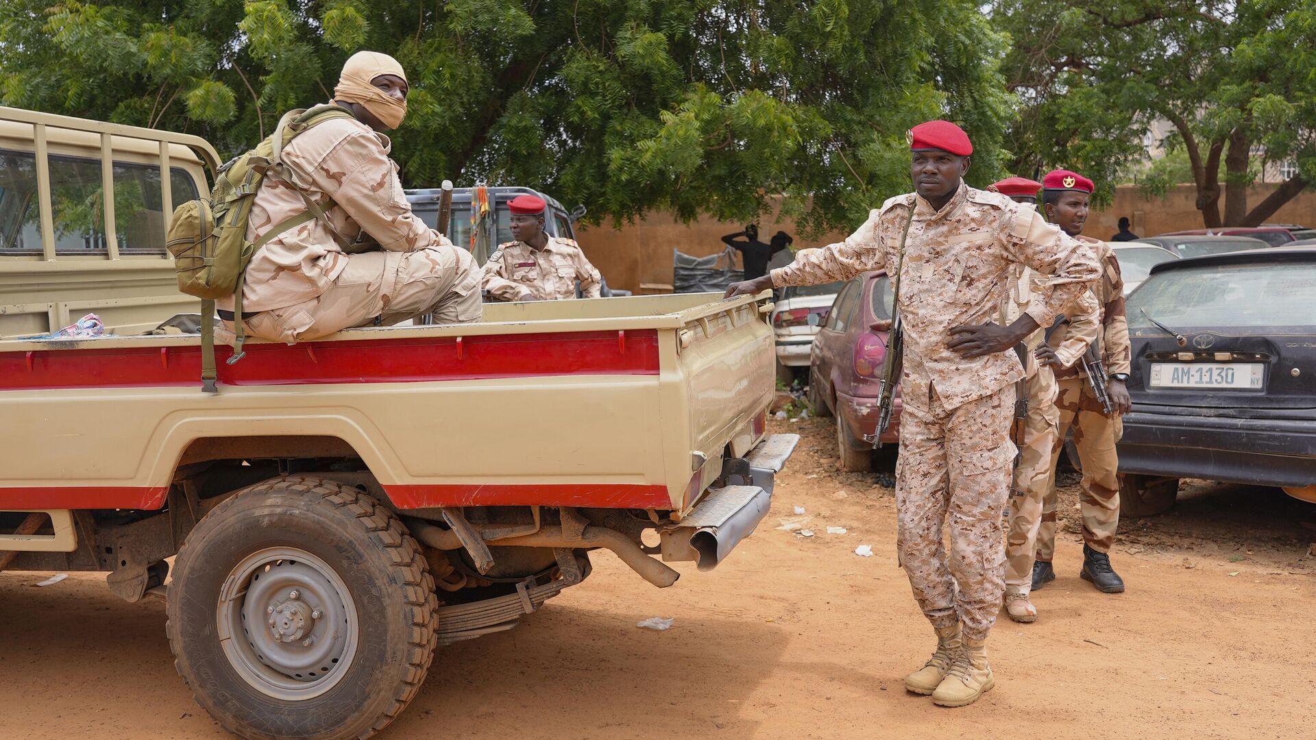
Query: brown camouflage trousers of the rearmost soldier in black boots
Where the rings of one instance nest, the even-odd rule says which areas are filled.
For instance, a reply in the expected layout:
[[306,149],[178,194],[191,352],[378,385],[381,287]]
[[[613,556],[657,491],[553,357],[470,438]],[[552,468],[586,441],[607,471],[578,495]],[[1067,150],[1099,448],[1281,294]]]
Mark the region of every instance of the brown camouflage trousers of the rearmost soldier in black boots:
[[[1078,449],[1079,465],[1083,466],[1083,483],[1079,491],[1079,510],[1083,516],[1083,541],[1099,553],[1111,550],[1115,544],[1115,531],[1120,525],[1120,460],[1115,442],[1124,433],[1124,420],[1101,413],[1092,390],[1084,378],[1063,378],[1057,382],[1059,394],[1055,408],[1059,411],[1057,442],[1051,450],[1050,470],[1055,470],[1065,444],[1065,433],[1074,427],[1074,446]],[[1048,486],[1042,502],[1042,525],[1037,533],[1037,560],[1050,562],[1055,553],[1055,485]]]

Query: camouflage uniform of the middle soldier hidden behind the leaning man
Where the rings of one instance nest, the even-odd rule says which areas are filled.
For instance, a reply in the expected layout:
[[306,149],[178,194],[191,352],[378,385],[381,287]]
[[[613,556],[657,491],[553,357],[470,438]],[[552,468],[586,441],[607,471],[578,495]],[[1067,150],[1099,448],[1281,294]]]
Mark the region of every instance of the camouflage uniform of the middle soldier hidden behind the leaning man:
[[[1004,311],[1007,321],[1013,321],[1038,290],[1045,290],[1045,284],[1036,275],[1034,279],[1028,275],[1012,279],[1011,300]],[[1069,333],[1055,349],[1055,356],[1061,365],[1070,367],[1096,338],[1100,327],[1100,308],[1092,292],[1087,291],[1074,302],[1065,317],[1069,320]],[[1048,321],[1046,325],[1050,324]],[[1044,337],[1045,329],[1038,329],[1024,342],[1028,348],[1028,419],[1024,421],[1020,461],[1009,492],[1009,528],[1005,535],[1005,590],[1015,594],[1028,594],[1032,587],[1033,553],[1037,548],[1042,502],[1050,491],[1051,450],[1059,425],[1055,373],[1033,357],[1033,350],[1041,346]]]

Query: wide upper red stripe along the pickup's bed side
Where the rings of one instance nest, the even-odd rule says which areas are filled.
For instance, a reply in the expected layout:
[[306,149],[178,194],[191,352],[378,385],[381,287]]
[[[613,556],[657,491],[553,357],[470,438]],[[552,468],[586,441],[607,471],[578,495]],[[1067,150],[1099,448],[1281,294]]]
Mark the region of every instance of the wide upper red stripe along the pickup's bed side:
[[[215,348],[220,383],[300,386],[316,383],[421,383],[532,375],[657,375],[658,332],[569,332],[468,337],[316,341],[247,345],[246,357],[225,362]],[[200,346],[117,346],[96,340],[67,349],[0,353],[0,391],[200,386]]]

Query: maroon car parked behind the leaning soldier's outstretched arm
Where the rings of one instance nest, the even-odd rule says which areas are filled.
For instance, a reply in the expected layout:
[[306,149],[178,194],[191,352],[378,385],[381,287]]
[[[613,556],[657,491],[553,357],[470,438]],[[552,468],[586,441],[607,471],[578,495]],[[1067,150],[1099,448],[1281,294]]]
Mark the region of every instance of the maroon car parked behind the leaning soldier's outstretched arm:
[[[863,441],[878,425],[878,386],[887,353],[891,283],[886,273],[854,278],[832,303],[813,340],[809,402],[819,416],[836,417],[836,441],[844,470],[870,470],[873,445]],[[899,388],[898,388],[899,394]],[[882,441],[900,438],[900,398]]]

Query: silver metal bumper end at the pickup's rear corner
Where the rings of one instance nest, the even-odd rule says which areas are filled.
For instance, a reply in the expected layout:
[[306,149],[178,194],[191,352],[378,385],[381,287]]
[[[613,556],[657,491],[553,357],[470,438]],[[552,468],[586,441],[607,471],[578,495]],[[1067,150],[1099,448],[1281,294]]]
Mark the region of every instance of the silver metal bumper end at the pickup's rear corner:
[[712,570],[767,516],[772,494],[759,486],[709,489],[680,524],[659,533],[665,561],[695,561]]

